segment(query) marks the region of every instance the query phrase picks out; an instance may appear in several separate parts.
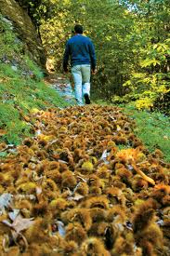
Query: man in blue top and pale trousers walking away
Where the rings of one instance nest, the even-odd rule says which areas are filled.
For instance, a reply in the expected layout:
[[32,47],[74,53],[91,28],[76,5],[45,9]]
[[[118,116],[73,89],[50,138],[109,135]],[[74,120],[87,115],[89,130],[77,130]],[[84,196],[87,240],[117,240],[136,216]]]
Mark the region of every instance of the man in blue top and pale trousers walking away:
[[90,75],[96,71],[96,55],[92,41],[83,35],[83,27],[75,25],[74,35],[67,41],[63,70],[68,72],[68,61],[71,57],[72,78],[75,99],[78,105],[90,104]]

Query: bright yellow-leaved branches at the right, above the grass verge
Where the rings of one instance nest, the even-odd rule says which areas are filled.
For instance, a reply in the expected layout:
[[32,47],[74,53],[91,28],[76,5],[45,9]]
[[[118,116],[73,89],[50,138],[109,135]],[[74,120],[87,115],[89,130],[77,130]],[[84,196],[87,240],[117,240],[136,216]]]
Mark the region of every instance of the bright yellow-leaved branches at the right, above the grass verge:
[[[150,44],[143,49],[143,58],[139,61],[140,72],[132,73],[124,87],[130,90],[129,99],[136,96],[137,109],[151,109],[156,101],[163,99],[170,91],[170,74],[167,72],[170,39],[164,43]],[[126,97],[127,98],[127,95]],[[112,101],[119,101],[113,98]],[[169,102],[165,102],[164,108],[169,111]]]

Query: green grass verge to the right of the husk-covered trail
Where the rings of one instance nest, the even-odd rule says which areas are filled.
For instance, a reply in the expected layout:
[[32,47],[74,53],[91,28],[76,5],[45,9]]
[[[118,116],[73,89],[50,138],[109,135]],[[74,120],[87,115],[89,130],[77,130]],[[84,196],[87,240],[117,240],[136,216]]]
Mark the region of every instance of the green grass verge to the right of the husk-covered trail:
[[[108,105],[106,101],[95,101],[98,104]],[[160,149],[164,160],[170,162],[170,117],[159,112],[138,111],[132,105],[120,105],[124,113],[135,119],[137,127],[134,132],[150,152]]]

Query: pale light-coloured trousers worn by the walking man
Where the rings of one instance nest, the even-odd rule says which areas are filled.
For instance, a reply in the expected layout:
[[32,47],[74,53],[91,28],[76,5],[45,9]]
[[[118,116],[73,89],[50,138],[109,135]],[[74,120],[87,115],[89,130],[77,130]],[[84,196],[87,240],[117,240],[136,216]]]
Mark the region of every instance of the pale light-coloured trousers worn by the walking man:
[[89,64],[75,65],[72,67],[72,77],[74,82],[75,100],[77,104],[83,106],[84,95],[90,96],[90,74]]

